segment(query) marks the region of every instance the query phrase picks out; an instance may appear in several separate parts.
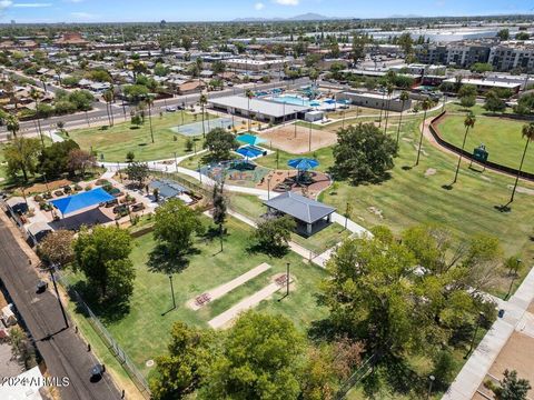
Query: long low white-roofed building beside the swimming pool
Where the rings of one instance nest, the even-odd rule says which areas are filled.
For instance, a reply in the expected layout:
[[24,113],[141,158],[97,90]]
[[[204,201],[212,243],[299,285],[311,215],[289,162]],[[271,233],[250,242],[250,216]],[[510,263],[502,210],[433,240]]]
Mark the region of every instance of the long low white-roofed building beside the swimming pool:
[[[211,108],[227,113],[254,118],[260,121],[279,123],[291,119],[303,119],[312,107],[280,103],[269,100],[248,99],[241,96],[229,96],[210,99]],[[250,112],[249,112],[250,110]]]

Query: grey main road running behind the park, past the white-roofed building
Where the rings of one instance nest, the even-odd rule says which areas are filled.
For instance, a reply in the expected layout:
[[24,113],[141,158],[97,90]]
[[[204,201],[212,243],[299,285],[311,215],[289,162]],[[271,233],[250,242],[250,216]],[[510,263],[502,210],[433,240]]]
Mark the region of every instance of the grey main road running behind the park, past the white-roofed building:
[[[249,84],[247,87],[234,87],[230,89],[221,90],[221,91],[215,91],[215,92],[209,92],[208,98],[210,99],[216,99],[225,96],[230,96],[230,94],[243,94],[247,89],[255,89],[255,90],[266,90],[266,89],[273,89],[273,88],[296,88],[299,86],[304,86],[309,83],[308,78],[301,78],[293,81],[276,81],[271,83],[259,83],[259,84]],[[48,89],[48,87],[47,87]],[[165,100],[157,100],[154,103],[154,113],[159,113],[160,111],[165,111],[166,107],[177,107],[177,106],[189,106],[194,104],[198,101],[200,94],[189,94],[189,96],[178,96],[171,99],[165,99]],[[56,129],[56,124],[59,121],[65,122],[65,129],[69,129],[69,127],[79,127],[79,126],[90,126],[91,123],[95,124],[97,122],[101,122],[102,120],[108,119],[108,113],[106,111],[106,106],[101,102],[95,102],[93,103],[95,109],[92,111],[88,112],[78,112],[75,114],[70,116],[60,116],[60,117],[52,117],[48,118],[46,120],[41,120],[41,127],[43,132],[48,132],[49,130]],[[131,109],[135,109],[135,107],[131,107]],[[111,113],[113,114],[113,118],[119,121],[125,118],[129,118],[130,116],[130,106],[125,106],[122,108],[120,101],[112,104],[111,107]],[[36,136],[37,134],[37,122],[36,121],[26,121],[20,123],[20,134],[22,136]],[[6,127],[0,127],[0,141],[6,141],[7,140],[7,129]]]

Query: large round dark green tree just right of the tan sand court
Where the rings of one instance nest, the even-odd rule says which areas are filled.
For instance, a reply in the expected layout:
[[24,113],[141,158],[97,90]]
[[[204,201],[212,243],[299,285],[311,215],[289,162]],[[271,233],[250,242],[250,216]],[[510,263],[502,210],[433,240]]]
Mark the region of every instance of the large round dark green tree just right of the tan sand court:
[[330,172],[336,179],[348,179],[352,184],[380,182],[394,167],[397,149],[395,140],[373,123],[340,129]]

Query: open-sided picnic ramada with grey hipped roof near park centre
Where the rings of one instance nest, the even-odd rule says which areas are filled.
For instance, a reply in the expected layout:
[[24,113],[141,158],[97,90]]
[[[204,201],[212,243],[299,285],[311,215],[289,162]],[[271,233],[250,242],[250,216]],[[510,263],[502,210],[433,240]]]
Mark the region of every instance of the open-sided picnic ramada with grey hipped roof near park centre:
[[334,207],[308,199],[295,192],[285,192],[264,201],[268,214],[290,216],[297,222],[297,232],[312,236],[332,222]]

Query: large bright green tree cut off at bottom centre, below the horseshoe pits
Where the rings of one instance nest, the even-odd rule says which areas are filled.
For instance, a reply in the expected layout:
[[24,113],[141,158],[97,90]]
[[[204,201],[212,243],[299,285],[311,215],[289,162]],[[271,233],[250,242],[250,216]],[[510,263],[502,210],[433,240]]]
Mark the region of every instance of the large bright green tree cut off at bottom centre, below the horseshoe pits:
[[298,399],[304,339],[290,320],[248,311],[211,363],[201,399]]

